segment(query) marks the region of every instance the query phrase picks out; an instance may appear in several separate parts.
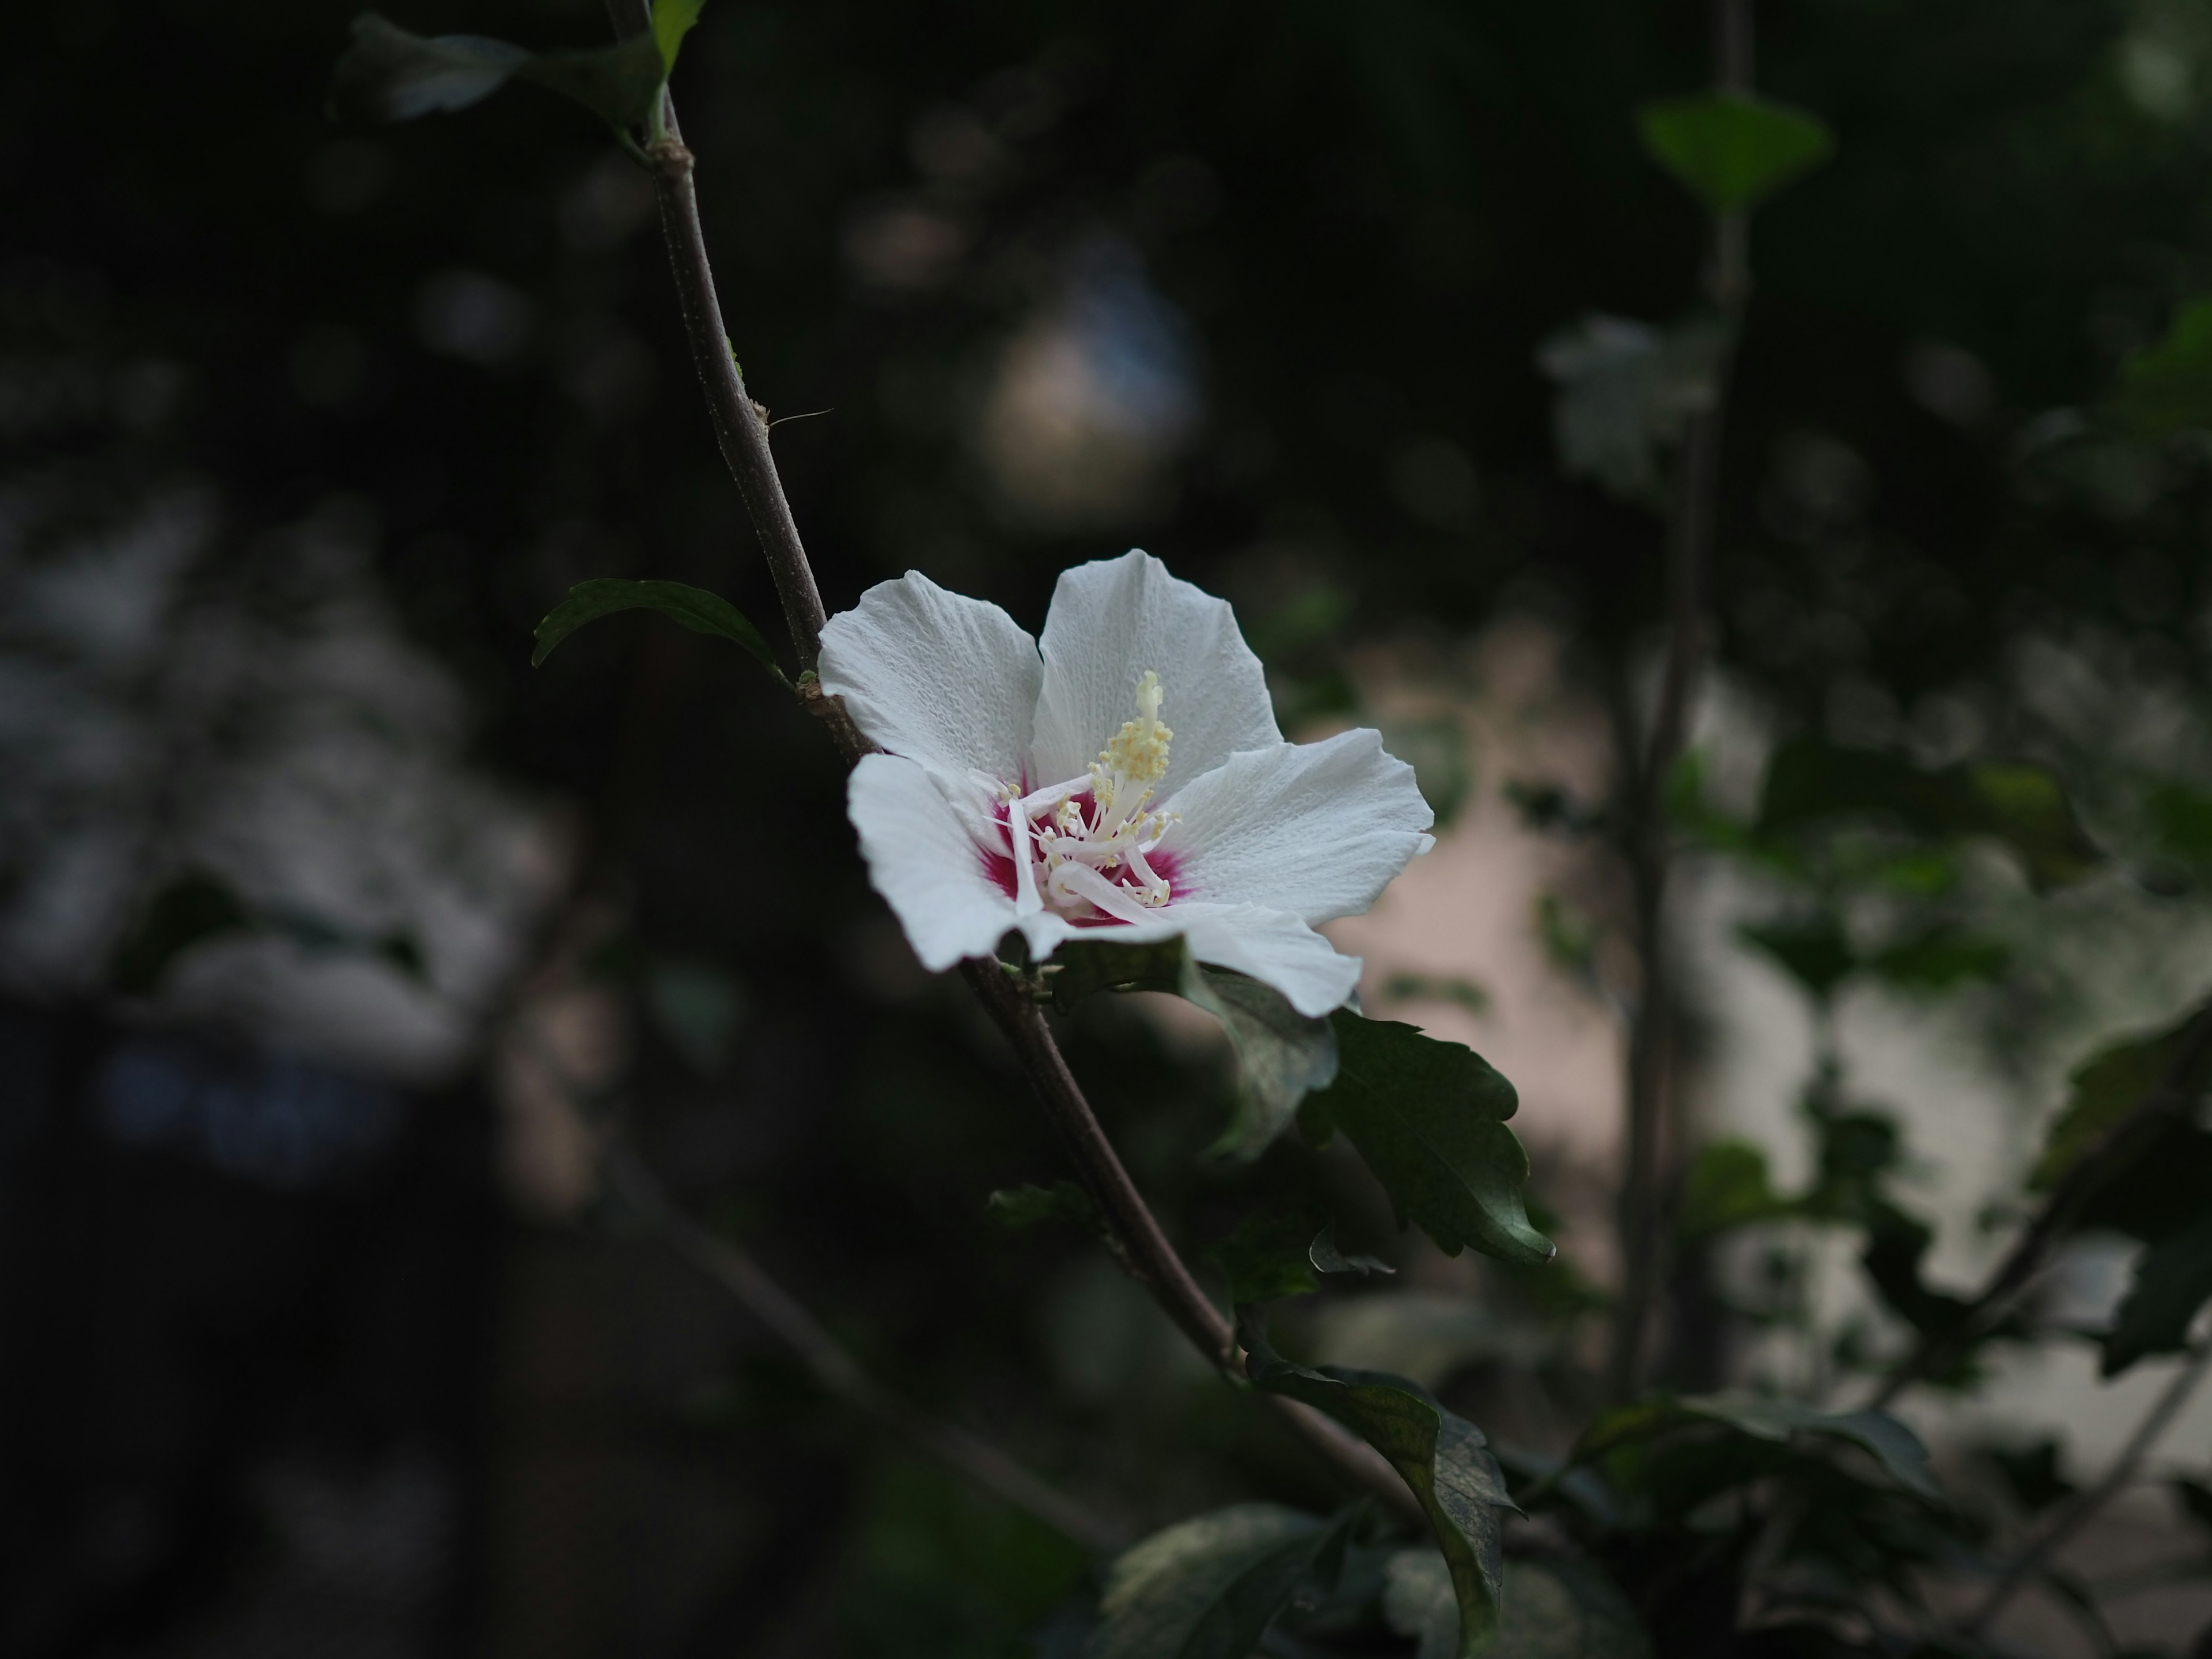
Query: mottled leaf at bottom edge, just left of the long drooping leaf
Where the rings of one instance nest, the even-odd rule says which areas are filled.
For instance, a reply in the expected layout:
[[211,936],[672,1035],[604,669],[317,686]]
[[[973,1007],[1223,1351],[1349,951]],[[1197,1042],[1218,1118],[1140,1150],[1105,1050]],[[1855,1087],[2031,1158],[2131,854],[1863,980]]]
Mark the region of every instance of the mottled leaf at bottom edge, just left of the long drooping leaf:
[[1086,1659],[1250,1659],[1354,1515],[1234,1504],[1152,1533],[1113,1564]]

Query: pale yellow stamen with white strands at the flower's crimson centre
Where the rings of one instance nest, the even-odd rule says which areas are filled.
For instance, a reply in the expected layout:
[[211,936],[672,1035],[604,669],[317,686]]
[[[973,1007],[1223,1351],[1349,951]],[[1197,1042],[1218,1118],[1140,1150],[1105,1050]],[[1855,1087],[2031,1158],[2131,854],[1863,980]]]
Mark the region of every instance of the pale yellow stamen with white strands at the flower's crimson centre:
[[1150,810],[1175,739],[1159,719],[1161,699],[1159,675],[1148,670],[1137,681],[1137,719],[1121,723],[1084,776],[1024,796],[1000,792],[1015,843],[1015,902],[1044,902],[1073,922],[1139,922],[1170,900],[1159,841],[1177,814]]

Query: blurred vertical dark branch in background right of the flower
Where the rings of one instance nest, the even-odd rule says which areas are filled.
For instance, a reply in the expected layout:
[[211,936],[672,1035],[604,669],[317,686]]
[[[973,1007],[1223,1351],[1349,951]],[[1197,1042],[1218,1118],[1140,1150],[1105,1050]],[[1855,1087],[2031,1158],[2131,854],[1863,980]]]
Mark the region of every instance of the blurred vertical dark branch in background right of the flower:
[[[1752,91],[1752,0],[1714,0],[1714,73],[1728,91]],[[1714,215],[1705,296],[1723,321],[1721,352],[1712,365],[1710,396],[1690,414],[1677,462],[1666,568],[1668,650],[1659,675],[1659,703],[1641,752],[1632,739],[1632,723],[1624,728],[1630,801],[1624,836],[1644,987],[1628,1033],[1628,1135],[1615,1219],[1621,1245],[1621,1301],[1615,1312],[1608,1385],[1617,1400],[1630,1398],[1644,1383],[1644,1340],[1657,1290],[1666,1283],[1659,1164],[1666,1144],[1668,1079],[1674,1071],[1672,984],[1663,940],[1670,854],[1666,779],[1681,759],[1690,703],[1710,650],[1705,584],[1721,504],[1728,378],[1752,285],[1747,232],[1743,212]]]

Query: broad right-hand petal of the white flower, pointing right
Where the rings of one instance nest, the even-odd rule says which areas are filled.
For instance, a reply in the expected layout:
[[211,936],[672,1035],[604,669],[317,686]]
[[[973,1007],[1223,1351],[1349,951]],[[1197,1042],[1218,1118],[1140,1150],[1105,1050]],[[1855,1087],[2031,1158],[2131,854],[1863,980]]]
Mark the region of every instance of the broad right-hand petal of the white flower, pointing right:
[[1181,812],[1161,847],[1175,889],[1208,905],[1270,905],[1327,922],[1376,902],[1436,814],[1413,768],[1367,728],[1325,743],[1232,754],[1166,805]]

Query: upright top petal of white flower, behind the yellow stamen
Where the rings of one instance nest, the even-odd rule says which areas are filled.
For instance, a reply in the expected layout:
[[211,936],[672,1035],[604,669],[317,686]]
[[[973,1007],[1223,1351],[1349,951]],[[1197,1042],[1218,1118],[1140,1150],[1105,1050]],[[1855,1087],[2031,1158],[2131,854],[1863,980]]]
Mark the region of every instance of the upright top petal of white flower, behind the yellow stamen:
[[1044,615],[1044,697],[1037,701],[1037,783],[1082,776],[1121,721],[1137,714],[1150,668],[1166,690],[1166,799],[1237,750],[1283,741],[1259,657],[1228,599],[1168,575],[1150,553],[1077,564],[1060,575]]

